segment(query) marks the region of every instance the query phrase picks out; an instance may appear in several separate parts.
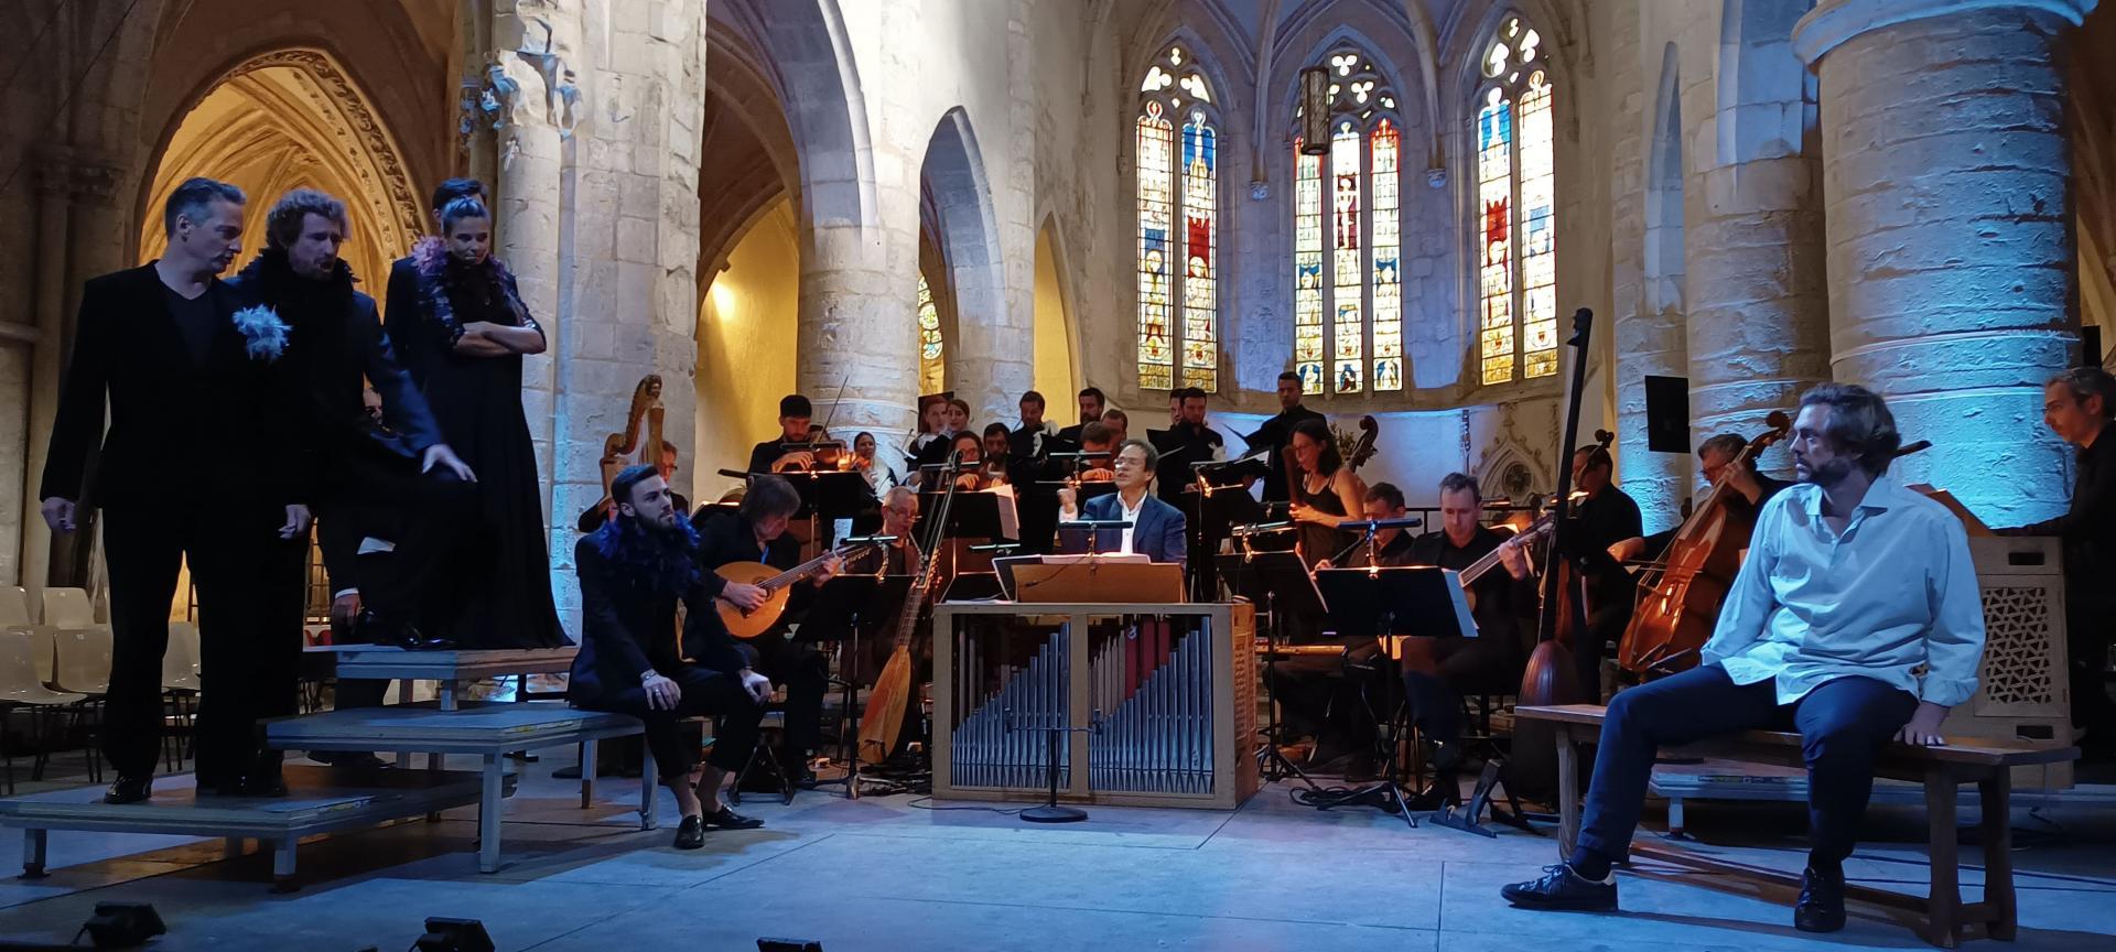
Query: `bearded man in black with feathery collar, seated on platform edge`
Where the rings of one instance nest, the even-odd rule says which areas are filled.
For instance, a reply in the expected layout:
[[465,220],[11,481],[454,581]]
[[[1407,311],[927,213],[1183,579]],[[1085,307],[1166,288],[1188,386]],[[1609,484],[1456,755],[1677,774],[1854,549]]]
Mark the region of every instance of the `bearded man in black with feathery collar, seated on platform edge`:
[[[772,683],[751,671],[726,628],[698,624],[719,618],[705,586],[717,575],[698,567],[698,533],[683,523],[669,482],[652,465],[631,465],[609,480],[609,497],[618,518],[573,546],[580,654],[565,696],[573,707],[628,713],[645,724],[654,766],[683,812],[675,848],[705,846],[707,827],[762,827],[764,821],[730,810],[719,787],[749,762]],[[677,649],[677,601],[688,607],[683,649]],[[677,724],[698,715],[719,717],[705,762]]]

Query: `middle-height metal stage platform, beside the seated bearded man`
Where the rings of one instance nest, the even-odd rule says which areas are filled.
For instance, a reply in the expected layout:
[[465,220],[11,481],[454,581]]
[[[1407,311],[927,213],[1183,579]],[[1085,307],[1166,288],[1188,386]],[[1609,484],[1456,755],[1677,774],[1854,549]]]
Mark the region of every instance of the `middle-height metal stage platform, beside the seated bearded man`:
[[[482,757],[482,789],[474,798],[478,804],[478,872],[497,872],[501,779],[510,753],[582,745],[580,806],[586,808],[595,798],[595,740],[639,732],[643,728],[631,715],[578,711],[563,700],[501,700],[463,704],[453,711],[438,704],[326,711],[273,721],[264,728],[264,738],[281,751],[474,753]],[[639,774],[641,829],[654,829],[654,787],[656,768],[650,751]]]

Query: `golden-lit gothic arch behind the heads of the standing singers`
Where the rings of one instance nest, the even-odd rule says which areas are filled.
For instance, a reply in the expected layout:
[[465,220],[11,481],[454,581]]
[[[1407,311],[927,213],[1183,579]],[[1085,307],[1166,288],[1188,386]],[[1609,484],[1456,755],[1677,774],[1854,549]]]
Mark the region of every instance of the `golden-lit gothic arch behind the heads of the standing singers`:
[[345,260],[379,281],[421,233],[421,201],[396,133],[334,55],[317,47],[256,53],[199,87],[161,131],[152,173],[140,182],[140,260],[163,250],[161,205],[178,182],[212,176],[250,193],[245,254],[264,245],[262,222],[288,188],[309,186],[347,203]]

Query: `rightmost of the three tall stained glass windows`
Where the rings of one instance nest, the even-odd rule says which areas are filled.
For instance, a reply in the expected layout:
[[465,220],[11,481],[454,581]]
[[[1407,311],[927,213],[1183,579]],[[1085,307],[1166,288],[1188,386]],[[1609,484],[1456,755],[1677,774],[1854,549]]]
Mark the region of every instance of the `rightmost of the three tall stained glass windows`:
[[1551,76],[1543,36],[1507,17],[1477,93],[1477,360],[1483,383],[1557,374]]

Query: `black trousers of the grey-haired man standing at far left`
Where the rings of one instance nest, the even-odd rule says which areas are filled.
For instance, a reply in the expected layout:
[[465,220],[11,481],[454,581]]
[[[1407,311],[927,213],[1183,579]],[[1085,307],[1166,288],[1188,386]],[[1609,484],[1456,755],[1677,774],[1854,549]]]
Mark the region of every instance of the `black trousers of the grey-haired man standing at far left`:
[[258,719],[296,711],[300,620],[284,624],[277,592],[300,592],[305,546],[277,537],[284,523],[286,510],[258,506],[104,510],[112,635],[104,755],[118,774],[152,774],[161,753],[161,658],[182,563],[199,594],[201,783],[248,774],[262,751]]

